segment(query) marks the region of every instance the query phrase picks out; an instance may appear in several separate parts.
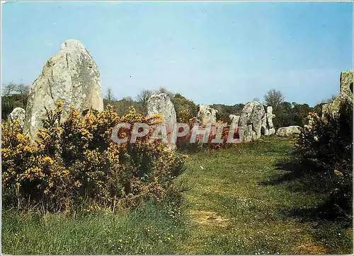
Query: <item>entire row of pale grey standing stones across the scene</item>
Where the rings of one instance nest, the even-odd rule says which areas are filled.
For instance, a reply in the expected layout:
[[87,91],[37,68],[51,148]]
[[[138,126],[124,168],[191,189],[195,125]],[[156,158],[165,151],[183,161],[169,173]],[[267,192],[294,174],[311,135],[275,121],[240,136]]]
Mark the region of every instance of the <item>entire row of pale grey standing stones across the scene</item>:
[[[350,87],[351,86],[351,87]],[[91,54],[78,40],[65,41],[59,53],[47,60],[42,73],[30,88],[26,110],[16,107],[10,114],[11,120],[19,120],[23,132],[35,140],[36,132],[42,128],[45,108],[53,109],[57,100],[63,101],[62,117],[69,115],[71,107],[79,112],[103,110],[102,86],[98,66]],[[323,106],[324,113],[338,112],[341,102],[353,104],[353,71],[341,73],[341,93],[333,103]],[[88,111],[86,111],[88,110]],[[148,101],[148,115],[161,114],[168,127],[176,123],[176,111],[168,95],[154,94]],[[200,105],[198,122],[215,125],[217,110],[209,105]],[[230,115],[230,123],[237,125],[241,141],[256,141],[261,135],[275,134],[273,107],[256,101],[246,103],[241,115]],[[300,132],[299,126],[280,127],[276,134],[292,136]],[[171,128],[170,128],[171,129]],[[174,145],[170,146],[175,149]]]

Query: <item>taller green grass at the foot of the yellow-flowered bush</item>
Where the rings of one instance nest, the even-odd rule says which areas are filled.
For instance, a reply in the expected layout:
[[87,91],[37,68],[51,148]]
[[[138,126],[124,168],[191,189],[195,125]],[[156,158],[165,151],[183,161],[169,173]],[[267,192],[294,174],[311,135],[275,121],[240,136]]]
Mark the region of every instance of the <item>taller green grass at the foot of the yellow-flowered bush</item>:
[[129,213],[3,213],[2,246],[6,254],[173,254],[181,247],[185,216],[171,200],[148,202]]

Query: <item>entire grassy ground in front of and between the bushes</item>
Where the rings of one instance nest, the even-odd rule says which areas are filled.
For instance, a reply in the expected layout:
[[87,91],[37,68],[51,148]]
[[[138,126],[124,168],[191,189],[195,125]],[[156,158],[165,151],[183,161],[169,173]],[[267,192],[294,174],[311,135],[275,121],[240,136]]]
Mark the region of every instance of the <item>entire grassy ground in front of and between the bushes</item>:
[[326,197],[293,175],[289,140],[193,153],[182,199],[127,213],[3,211],[5,254],[350,254],[351,222],[314,214]]

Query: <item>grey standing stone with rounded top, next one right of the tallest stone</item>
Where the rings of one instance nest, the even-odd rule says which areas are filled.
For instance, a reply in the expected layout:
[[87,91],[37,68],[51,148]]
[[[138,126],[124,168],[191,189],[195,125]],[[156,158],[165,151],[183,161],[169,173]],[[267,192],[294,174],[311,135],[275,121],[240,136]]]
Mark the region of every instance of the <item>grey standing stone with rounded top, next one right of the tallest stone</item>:
[[[171,99],[166,93],[153,94],[147,100],[147,115],[161,114],[161,120],[166,125],[167,134],[173,131],[173,127],[177,122],[176,110],[173,106]],[[169,136],[166,141],[169,141]],[[176,149],[176,141],[169,141],[169,150]]]

